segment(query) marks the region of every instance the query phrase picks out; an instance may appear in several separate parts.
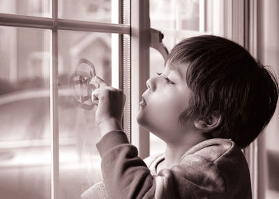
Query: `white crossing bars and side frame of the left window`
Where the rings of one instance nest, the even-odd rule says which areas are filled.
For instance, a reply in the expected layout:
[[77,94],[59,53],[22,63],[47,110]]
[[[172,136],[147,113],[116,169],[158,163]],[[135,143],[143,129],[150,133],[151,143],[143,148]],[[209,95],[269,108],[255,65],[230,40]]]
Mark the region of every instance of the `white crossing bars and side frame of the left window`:
[[[118,5],[118,6],[117,6]],[[87,22],[82,20],[66,20],[58,17],[58,0],[50,0],[51,17],[35,17],[27,15],[0,13],[0,26],[8,27],[26,27],[36,29],[48,29],[50,34],[50,135],[51,135],[51,198],[59,198],[59,120],[58,120],[58,31],[91,31],[112,34],[112,54],[116,57],[112,60],[112,71],[119,73],[119,77],[112,78],[112,86],[121,87],[128,96],[128,105],[126,105],[126,115],[130,115],[130,87],[126,77],[121,78],[120,72],[125,66],[130,72],[130,1],[112,0],[112,22],[119,21],[118,24],[103,22]],[[116,19],[114,18],[116,17]],[[123,23],[121,23],[123,22]],[[123,35],[123,44],[121,36]],[[135,43],[135,45],[137,45]],[[126,50],[122,50],[122,47]],[[118,49],[117,49],[118,48]],[[117,54],[120,56],[117,58]],[[123,61],[123,59],[126,59]],[[128,60],[127,60],[128,59]],[[120,70],[119,70],[120,69]],[[127,87],[128,85],[128,87]],[[127,103],[126,103],[127,104]],[[124,117],[124,130],[130,137],[130,117]]]

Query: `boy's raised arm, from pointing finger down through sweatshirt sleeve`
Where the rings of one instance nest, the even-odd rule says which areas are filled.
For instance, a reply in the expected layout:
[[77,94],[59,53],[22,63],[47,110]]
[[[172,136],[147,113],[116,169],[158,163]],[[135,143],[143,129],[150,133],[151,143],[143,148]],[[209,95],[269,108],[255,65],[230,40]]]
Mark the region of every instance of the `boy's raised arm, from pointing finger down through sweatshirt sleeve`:
[[123,133],[121,121],[125,95],[97,76],[94,80],[100,87],[93,91],[92,102],[98,105],[96,123],[103,138],[97,148],[102,157],[102,172],[110,198],[144,198],[153,188],[153,177],[137,148],[130,145]]

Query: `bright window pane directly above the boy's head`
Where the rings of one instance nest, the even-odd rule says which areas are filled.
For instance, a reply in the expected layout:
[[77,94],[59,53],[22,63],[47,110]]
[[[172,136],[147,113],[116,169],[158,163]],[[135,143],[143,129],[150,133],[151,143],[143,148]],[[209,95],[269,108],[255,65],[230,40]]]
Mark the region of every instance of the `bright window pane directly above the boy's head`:
[[199,0],[150,0],[151,27],[199,30]]

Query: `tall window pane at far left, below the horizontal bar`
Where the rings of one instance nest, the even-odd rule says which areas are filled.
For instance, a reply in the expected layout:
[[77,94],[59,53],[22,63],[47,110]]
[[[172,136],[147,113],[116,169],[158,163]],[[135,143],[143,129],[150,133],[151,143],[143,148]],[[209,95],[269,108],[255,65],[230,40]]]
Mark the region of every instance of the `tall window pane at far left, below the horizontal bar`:
[[49,38],[0,27],[0,198],[50,198]]

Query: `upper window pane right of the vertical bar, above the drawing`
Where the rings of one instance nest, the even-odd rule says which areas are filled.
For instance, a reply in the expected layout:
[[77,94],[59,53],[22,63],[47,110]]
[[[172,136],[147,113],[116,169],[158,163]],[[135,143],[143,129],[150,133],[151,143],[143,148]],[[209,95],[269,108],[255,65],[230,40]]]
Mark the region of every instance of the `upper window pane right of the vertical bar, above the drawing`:
[[[59,17],[91,22],[112,22],[112,1],[116,0],[59,0]],[[114,5],[114,9],[118,9]],[[117,17],[118,16],[114,16]]]

